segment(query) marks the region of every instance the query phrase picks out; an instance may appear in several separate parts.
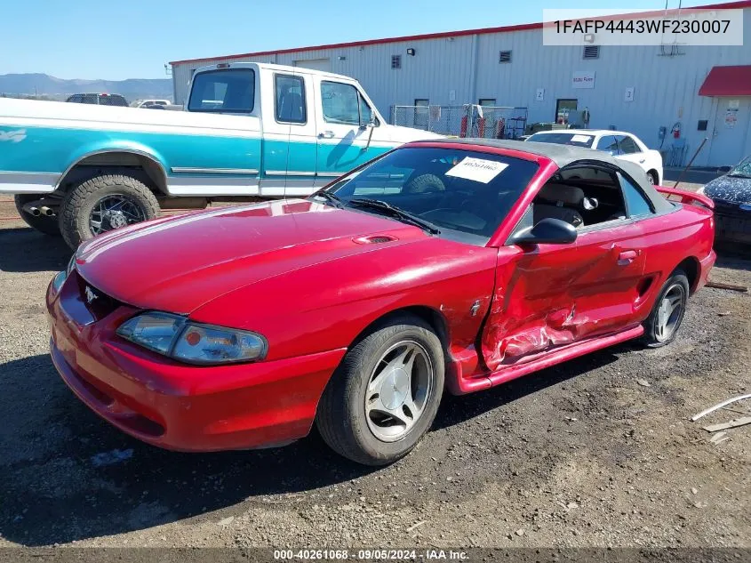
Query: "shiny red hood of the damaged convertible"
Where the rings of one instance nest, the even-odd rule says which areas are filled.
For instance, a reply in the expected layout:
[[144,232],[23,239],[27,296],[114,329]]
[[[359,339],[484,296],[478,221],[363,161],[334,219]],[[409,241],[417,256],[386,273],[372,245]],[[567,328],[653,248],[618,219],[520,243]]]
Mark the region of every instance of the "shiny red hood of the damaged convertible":
[[76,269],[117,301],[189,314],[269,277],[427,238],[417,227],[378,215],[280,200],[112,231],[79,248]]

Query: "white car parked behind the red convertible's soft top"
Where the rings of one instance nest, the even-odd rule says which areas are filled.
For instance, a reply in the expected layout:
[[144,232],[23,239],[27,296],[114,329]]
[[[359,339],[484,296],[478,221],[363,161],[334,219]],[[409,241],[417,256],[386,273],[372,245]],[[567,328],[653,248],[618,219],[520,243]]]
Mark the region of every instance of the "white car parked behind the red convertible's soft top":
[[554,142],[559,145],[602,150],[613,157],[630,160],[647,173],[651,184],[662,181],[662,155],[649,149],[636,135],[610,129],[557,129],[540,131],[526,139],[534,142]]

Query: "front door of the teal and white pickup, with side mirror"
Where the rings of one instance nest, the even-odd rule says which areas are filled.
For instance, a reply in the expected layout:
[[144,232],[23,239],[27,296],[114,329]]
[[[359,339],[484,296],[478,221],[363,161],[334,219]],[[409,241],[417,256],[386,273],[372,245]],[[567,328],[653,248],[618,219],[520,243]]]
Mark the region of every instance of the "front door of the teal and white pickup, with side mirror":
[[[373,110],[355,84],[320,78],[316,183],[324,185],[387,150],[379,139],[379,123],[371,131]],[[377,118],[376,118],[377,119]],[[370,144],[369,144],[370,141]],[[373,143],[376,143],[374,145]]]

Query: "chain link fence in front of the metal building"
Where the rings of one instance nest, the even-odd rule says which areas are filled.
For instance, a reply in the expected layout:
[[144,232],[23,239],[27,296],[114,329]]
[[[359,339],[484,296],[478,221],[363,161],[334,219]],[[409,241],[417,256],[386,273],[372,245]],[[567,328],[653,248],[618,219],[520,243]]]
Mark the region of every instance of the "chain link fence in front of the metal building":
[[391,124],[452,137],[518,139],[526,108],[505,106],[391,106]]

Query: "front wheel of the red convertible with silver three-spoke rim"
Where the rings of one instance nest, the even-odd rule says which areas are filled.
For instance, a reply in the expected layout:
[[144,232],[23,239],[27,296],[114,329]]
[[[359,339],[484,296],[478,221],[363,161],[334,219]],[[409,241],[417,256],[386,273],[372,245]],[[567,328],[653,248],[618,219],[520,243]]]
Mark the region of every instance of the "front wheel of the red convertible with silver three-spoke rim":
[[435,420],[443,395],[443,346],[421,318],[400,315],[348,351],[318,405],[326,444],[365,465],[409,454]]

